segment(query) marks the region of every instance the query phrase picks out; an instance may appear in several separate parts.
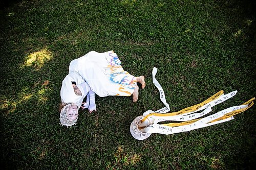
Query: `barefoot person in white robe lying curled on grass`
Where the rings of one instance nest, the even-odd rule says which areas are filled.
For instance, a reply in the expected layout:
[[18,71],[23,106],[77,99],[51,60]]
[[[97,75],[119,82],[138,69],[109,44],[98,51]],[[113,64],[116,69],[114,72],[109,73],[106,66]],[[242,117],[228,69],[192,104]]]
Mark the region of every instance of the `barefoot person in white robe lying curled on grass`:
[[[144,76],[134,77],[124,71],[114,51],[89,52],[70,62],[69,74],[62,81],[60,90],[60,123],[67,127],[76,124],[78,109],[96,111],[95,93],[100,97],[108,95],[131,96],[133,102],[139,98],[138,83],[145,88]],[[83,102],[83,99],[86,102]]]

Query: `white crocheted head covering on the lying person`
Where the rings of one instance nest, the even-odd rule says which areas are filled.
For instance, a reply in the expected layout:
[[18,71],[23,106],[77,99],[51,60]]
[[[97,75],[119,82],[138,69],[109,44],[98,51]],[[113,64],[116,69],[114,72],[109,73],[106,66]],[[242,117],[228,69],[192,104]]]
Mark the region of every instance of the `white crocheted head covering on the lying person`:
[[59,120],[62,126],[65,125],[67,127],[71,127],[72,125],[76,125],[76,120],[78,119],[78,115],[75,119],[68,116],[69,109],[74,105],[76,106],[75,103],[71,103],[64,106],[61,109],[61,112],[59,114]]

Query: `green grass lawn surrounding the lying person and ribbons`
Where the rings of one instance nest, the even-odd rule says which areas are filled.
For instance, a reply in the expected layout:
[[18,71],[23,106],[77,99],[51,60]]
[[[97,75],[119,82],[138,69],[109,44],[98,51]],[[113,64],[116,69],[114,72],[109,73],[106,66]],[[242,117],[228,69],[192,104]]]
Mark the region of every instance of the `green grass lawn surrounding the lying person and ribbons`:
[[[173,135],[130,134],[134,118],[174,111],[219,90],[238,90],[213,113],[256,96],[252,1],[15,1],[1,11],[1,163],[7,169],[252,169],[255,106],[230,122]],[[134,76],[139,100],[96,96],[97,113],[59,125],[58,104],[71,60],[114,50]]]

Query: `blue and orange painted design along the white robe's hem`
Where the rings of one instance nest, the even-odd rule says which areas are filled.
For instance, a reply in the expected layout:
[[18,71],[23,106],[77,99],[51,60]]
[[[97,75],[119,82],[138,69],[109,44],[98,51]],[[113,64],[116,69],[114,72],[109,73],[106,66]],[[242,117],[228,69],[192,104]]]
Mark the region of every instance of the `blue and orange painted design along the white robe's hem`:
[[137,83],[136,78],[130,75],[129,72],[123,70],[123,67],[120,65],[121,61],[117,57],[116,53],[109,53],[106,60],[109,63],[107,69],[110,80],[113,83],[119,84],[119,93],[116,95],[130,96],[133,93]]

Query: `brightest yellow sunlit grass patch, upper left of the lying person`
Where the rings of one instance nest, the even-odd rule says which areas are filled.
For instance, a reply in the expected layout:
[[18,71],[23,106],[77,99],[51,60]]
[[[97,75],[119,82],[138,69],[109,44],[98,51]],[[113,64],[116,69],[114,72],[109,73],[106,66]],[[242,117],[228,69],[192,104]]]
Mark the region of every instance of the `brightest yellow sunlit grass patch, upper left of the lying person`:
[[32,66],[36,69],[40,69],[45,62],[52,58],[52,54],[47,49],[31,53],[25,58],[24,66]]

